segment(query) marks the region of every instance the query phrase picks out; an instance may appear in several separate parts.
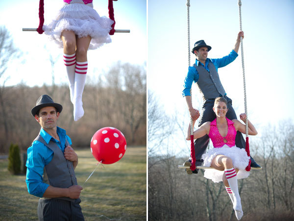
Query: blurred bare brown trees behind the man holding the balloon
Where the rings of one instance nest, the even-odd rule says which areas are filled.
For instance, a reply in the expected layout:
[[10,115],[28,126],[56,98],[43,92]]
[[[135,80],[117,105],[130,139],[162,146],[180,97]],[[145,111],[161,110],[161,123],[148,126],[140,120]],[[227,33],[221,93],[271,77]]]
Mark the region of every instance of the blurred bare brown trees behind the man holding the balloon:
[[121,64],[111,67],[96,81],[87,79],[83,92],[85,115],[73,121],[73,104],[68,85],[25,84],[0,87],[0,152],[7,152],[11,143],[25,150],[38,135],[40,125],[30,114],[37,99],[49,95],[63,106],[57,125],[66,129],[73,147],[90,147],[94,133],[105,126],[123,132],[128,145],[146,145],[146,70],[145,67]]

